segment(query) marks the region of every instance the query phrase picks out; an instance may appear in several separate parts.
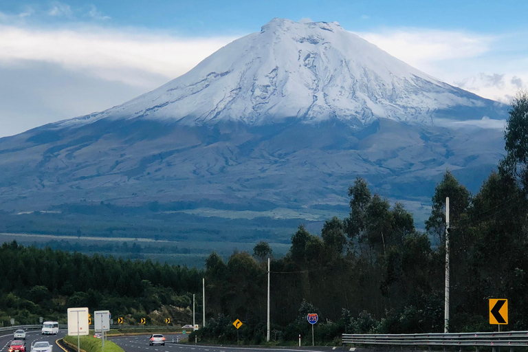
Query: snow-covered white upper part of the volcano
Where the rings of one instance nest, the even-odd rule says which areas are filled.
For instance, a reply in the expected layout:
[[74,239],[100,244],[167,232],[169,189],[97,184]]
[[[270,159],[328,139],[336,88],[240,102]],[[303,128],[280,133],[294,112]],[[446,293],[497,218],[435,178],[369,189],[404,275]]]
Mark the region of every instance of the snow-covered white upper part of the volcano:
[[338,23],[273,19],[261,32],[225,45],[154,91],[62,124],[100,118],[187,125],[267,124],[285,118],[430,122],[445,109],[492,105],[399,61]]

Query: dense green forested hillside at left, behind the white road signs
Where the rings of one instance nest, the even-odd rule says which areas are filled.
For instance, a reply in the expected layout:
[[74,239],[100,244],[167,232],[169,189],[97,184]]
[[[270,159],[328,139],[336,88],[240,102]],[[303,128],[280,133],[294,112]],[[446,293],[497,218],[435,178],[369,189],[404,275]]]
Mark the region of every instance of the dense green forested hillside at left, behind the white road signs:
[[[163,325],[192,321],[192,294],[199,292],[199,270],[152,261],[131,261],[79,253],[0,247],[0,325],[10,318],[35,324],[39,316],[65,322],[67,307],[110,309],[126,324],[146,318]],[[169,315],[170,314],[170,315]]]

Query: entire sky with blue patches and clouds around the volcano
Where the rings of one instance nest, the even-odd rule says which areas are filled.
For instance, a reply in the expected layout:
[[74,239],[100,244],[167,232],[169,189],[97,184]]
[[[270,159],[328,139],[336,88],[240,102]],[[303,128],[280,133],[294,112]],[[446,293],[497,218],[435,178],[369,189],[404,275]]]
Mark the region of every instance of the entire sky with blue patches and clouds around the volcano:
[[274,17],[345,30],[451,85],[528,88],[528,1],[1,1],[0,137],[106,109]]

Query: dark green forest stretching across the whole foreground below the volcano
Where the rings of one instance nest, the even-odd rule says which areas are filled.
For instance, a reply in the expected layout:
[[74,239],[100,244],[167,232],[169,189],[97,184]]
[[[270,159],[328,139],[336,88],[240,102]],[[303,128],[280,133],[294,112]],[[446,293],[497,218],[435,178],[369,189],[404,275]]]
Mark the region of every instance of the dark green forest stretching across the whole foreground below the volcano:
[[[400,203],[373,194],[364,179],[348,190],[348,217],[328,219],[320,234],[300,225],[289,252],[274,258],[265,242],[227,261],[212,252],[203,270],[152,261],[87,256],[6,243],[0,248],[0,325],[65,319],[67,307],[109,309],[136,324],[192,320],[192,294],[206,327],[200,339],[265,341],[267,258],[271,257],[272,339],[307,338],[308,313],[318,313],[318,342],[341,333],[443,331],[445,197],[450,197],[450,331],[492,331],[488,299],[509,300],[505,330],[528,329],[528,96],[513,102],[505,130],[506,156],[472,195],[446,171],[432,195],[426,232]],[[431,242],[440,243],[432,246]],[[197,321],[201,322],[201,305]]]

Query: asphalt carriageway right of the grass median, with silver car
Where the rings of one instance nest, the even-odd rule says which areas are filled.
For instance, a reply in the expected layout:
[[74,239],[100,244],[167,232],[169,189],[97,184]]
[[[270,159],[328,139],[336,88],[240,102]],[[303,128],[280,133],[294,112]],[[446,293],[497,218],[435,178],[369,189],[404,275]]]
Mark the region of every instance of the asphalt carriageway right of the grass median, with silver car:
[[[166,335],[166,341],[172,341],[172,335]],[[181,337],[181,336],[180,336]],[[177,343],[166,343],[165,346],[148,346],[148,338],[150,335],[142,336],[120,336],[115,338],[109,338],[112,342],[118,344],[125,352],[254,352],[254,351],[265,351],[265,352],[328,352],[328,349],[322,349],[317,351],[316,349],[269,349],[269,348],[257,348],[257,347],[223,347],[223,346],[201,346],[199,344],[177,344]],[[174,338],[176,341],[176,337]]]

